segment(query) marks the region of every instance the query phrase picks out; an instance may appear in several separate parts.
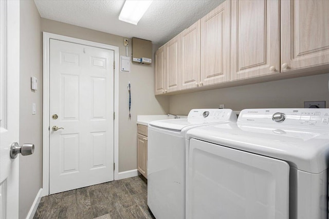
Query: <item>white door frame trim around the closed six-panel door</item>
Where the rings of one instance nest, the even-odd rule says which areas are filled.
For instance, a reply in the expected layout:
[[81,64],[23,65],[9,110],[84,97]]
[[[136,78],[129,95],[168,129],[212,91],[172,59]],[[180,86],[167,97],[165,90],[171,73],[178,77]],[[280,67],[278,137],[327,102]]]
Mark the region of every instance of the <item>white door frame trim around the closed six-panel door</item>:
[[114,51],[114,112],[116,113],[115,117],[117,118],[114,120],[114,163],[116,164],[114,169],[114,180],[119,180],[119,47],[43,32],[42,196],[49,195],[50,39],[57,39],[69,43],[82,44]]

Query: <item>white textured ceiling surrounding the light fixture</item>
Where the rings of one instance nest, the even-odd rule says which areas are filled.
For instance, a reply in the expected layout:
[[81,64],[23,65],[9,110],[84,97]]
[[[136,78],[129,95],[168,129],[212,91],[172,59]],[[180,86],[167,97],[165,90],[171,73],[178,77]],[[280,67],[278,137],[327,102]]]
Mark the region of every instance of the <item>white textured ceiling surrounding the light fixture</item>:
[[119,21],[124,1],[34,0],[41,17],[163,45],[224,0],[155,0],[138,25]]

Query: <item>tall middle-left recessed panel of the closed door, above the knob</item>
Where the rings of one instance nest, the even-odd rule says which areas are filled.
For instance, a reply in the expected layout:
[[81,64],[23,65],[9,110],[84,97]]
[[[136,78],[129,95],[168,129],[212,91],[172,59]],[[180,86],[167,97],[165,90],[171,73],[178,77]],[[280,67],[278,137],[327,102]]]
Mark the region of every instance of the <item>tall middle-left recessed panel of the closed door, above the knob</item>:
[[62,74],[63,118],[79,118],[79,76]]

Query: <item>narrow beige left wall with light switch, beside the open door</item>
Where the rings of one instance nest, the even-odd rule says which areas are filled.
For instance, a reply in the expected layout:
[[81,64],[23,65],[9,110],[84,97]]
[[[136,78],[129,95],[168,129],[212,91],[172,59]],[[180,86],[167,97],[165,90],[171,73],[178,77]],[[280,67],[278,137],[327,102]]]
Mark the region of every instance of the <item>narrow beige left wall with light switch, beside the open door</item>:
[[[33,1],[20,1],[20,7],[20,145],[35,146],[32,155],[20,155],[19,217],[26,218],[42,178],[41,17]],[[31,90],[31,76],[38,78],[37,91]]]

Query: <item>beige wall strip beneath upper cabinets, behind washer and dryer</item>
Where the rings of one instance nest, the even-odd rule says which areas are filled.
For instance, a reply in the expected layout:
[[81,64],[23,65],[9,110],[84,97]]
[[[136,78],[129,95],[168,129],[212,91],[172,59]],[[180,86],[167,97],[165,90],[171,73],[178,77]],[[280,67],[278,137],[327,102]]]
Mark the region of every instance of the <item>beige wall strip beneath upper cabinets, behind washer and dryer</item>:
[[304,101],[326,101],[329,74],[222,88],[171,96],[170,113],[188,114],[193,108],[304,108]]

